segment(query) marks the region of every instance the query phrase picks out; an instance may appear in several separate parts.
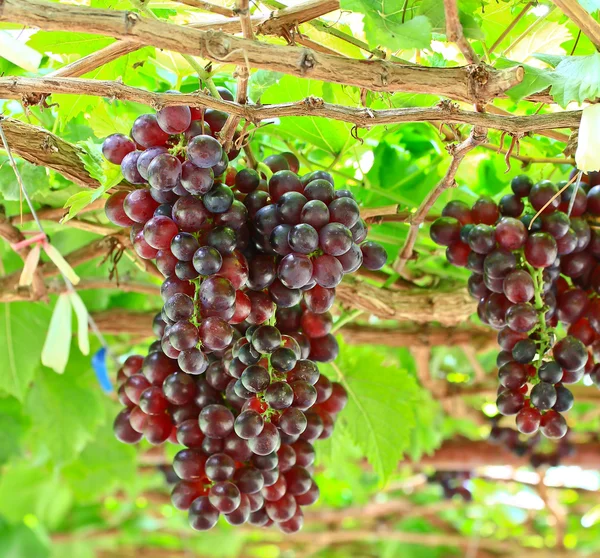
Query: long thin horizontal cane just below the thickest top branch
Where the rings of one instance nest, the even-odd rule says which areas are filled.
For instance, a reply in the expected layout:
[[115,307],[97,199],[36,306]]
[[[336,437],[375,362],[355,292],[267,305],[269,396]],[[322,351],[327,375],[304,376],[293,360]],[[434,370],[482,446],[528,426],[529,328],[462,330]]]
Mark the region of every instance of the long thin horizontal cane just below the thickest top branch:
[[529,131],[552,130],[554,128],[578,128],[581,121],[581,111],[564,111],[531,116],[502,116],[461,110],[451,103],[441,103],[439,106],[431,108],[410,107],[371,110],[325,103],[322,99],[314,97],[292,103],[255,106],[239,105],[231,101],[211,97],[199,91],[187,94],[154,93],[115,81],[47,77],[0,78],[0,98],[2,99],[27,100],[28,96],[48,92],[134,101],[154,108],[180,104],[199,108],[209,107],[235,114],[250,122],[260,122],[286,116],[321,116],[366,128],[380,124],[399,124],[403,122],[447,122],[474,124],[519,134]]

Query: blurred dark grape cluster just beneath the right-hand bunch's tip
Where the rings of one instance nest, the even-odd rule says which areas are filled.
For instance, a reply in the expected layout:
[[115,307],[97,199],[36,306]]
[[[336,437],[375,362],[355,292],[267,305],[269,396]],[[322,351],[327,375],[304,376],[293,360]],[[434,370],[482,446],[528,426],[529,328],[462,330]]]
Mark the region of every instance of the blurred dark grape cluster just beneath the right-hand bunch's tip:
[[552,451],[548,452],[543,451],[543,448],[540,447],[542,439],[539,432],[523,439],[518,431],[498,426],[499,418],[498,416],[492,419],[492,429],[489,435],[490,443],[503,446],[518,457],[528,456],[529,463],[533,468],[542,466],[558,467],[562,458],[575,453],[575,447],[569,440],[569,432],[556,443]]

